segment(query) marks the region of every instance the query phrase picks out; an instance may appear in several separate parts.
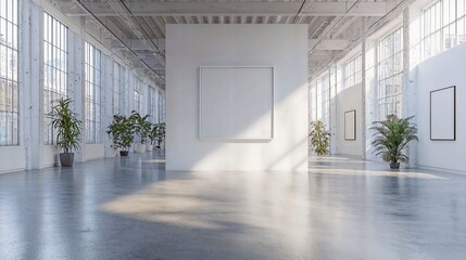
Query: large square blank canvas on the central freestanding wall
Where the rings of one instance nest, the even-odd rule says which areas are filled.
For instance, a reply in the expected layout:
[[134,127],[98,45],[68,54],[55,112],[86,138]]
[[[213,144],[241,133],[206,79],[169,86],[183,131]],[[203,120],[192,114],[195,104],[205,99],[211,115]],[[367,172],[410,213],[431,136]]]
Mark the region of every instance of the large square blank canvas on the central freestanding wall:
[[199,93],[200,139],[273,139],[273,67],[202,66]]

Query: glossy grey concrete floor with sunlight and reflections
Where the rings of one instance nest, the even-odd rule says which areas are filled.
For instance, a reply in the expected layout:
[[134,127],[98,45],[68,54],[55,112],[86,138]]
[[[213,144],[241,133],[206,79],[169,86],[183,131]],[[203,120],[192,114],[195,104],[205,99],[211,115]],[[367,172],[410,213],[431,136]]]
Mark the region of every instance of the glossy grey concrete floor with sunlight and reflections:
[[466,259],[466,176],[314,158],[165,171],[130,154],[0,176],[0,259]]

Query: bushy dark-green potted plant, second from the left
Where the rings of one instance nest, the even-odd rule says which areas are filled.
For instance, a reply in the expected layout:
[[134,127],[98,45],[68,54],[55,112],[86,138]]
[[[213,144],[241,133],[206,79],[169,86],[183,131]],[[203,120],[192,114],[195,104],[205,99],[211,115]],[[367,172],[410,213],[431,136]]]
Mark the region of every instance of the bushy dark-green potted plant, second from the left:
[[112,147],[119,150],[121,156],[128,156],[129,147],[135,140],[131,120],[122,115],[114,115],[106,134],[113,140]]

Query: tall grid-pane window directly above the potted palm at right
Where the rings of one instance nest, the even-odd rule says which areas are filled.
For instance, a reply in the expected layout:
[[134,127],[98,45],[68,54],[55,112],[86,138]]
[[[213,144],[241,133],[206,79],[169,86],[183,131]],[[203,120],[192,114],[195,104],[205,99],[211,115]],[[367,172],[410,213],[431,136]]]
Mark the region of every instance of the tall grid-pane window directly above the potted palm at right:
[[379,118],[401,117],[403,86],[403,29],[400,28],[378,46],[378,105]]

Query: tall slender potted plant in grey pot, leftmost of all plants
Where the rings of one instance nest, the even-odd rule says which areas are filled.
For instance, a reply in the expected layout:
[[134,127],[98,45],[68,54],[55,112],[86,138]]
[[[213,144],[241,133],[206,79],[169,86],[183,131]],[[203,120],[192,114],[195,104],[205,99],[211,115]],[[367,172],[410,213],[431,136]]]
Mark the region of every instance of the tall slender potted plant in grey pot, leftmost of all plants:
[[52,120],[52,127],[56,129],[56,144],[63,151],[60,154],[60,164],[63,167],[73,166],[73,150],[79,148],[83,125],[78,119],[78,114],[71,109],[71,99],[59,99],[48,115]]

